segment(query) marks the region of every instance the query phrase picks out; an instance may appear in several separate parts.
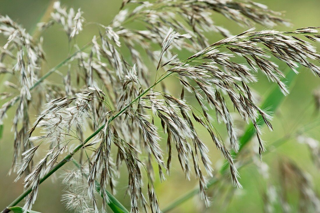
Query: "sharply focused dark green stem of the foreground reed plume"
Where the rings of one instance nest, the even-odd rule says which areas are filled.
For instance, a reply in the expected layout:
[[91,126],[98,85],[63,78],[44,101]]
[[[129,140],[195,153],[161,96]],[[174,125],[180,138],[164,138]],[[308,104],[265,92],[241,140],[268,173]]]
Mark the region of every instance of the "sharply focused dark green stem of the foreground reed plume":
[[[62,63],[62,62],[61,62]],[[60,64],[61,64],[60,63]],[[62,66],[62,65],[61,65]],[[134,104],[138,99],[140,99],[144,94],[146,94],[148,91],[150,91],[154,86],[156,86],[158,83],[160,83],[162,80],[164,80],[166,77],[168,77],[169,75],[171,75],[172,73],[169,72],[167,75],[165,75],[164,77],[162,77],[161,79],[159,79],[156,83],[152,84],[148,89],[144,90],[137,98],[135,98],[134,100],[132,100],[128,105],[124,106],[117,114],[115,114],[114,116],[112,116],[109,119],[109,122],[113,121],[116,117],[118,117],[120,114],[122,114],[129,106],[131,106],[132,104]],[[40,83],[40,82],[39,82]],[[108,122],[108,123],[109,123]],[[57,171],[58,169],[60,169],[60,167],[62,167],[64,164],[66,164],[68,161],[70,161],[71,157],[76,154],[89,140],[91,140],[94,136],[96,136],[104,127],[105,127],[106,123],[103,124],[102,126],[99,127],[99,129],[97,129],[94,133],[92,133],[92,135],[90,135],[87,139],[84,140],[83,143],[81,143],[80,145],[78,145],[74,150],[72,150],[71,153],[69,153],[67,156],[65,156],[55,167],[53,167],[53,169],[51,171],[49,171],[43,178],[40,179],[39,184],[41,184],[42,182],[44,182],[44,180],[46,180],[48,177],[50,177],[55,171]],[[5,208],[1,213],[7,213],[10,212],[10,207],[17,205],[20,201],[22,201],[29,193],[31,192],[31,189],[28,189],[26,191],[24,191],[22,194],[20,194],[19,197],[17,197],[14,201],[12,201],[12,203],[9,204],[9,206],[7,206],[7,208]]]

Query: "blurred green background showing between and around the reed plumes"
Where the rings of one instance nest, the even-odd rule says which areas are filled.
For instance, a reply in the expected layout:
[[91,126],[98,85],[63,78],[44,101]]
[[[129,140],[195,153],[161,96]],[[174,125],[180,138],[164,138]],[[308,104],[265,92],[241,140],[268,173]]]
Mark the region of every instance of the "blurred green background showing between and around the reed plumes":
[[[302,28],[308,26],[320,25],[320,1],[319,0],[256,0],[256,2],[266,4],[274,11],[285,11],[285,18],[291,20],[293,26],[291,28]],[[49,1],[44,0],[0,0],[0,13],[8,15],[16,22],[20,23],[27,30],[32,30],[39,17],[44,13]],[[120,0],[70,0],[61,1],[62,5],[73,7],[75,9],[81,8],[84,12],[86,22],[99,22],[103,25],[108,25],[112,18],[118,12],[121,5]],[[219,14],[214,14],[213,19],[217,25],[228,28],[231,33],[236,34],[244,31],[244,28],[237,26],[234,22],[227,20]],[[136,26],[139,27],[139,26]],[[257,26],[258,29],[266,29],[264,26]],[[286,30],[283,26],[276,26],[278,30]],[[89,42],[93,35],[98,34],[98,28],[95,25],[87,25],[84,31],[77,38],[79,46]],[[210,42],[215,42],[221,39],[219,35],[208,35]],[[58,26],[54,26],[47,30],[44,34],[43,48],[46,53],[46,63],[43,66],[43,73],[51,67],[58,64],[61,60],[68,56],[68,38],[65,33]],[[4,41],[3,38],[0,38]],[[181,58],[184,58],[183,56]],[[280,64],[281,67],[286,68],[285,64]],[[272,124],[274,127],[273,132],[269,132],[266,128],[263,139],[266,141],[267,149],[272,148],[268,145],[275,142],[277,139],[282,138],[288,133],[296,131],[296,126],[302,126],[312,119],[320,119],[314,114],[314,102],[312,93],[314,90],[319,89],[320,79],[309,70],[301,69],[295,84],[290,89],[291,93],[286,97],[280,108],[275,114],[275,119]],[[52,75],[51,79],[59,78]],[[264,76],[260,76],[260,81],[252,85],[253,88],[261,95],[262,99],[268,94],[268,91],[275,86],[268,82]],[[169,82],[170,84],[170,82]],[[170,88],[172,91],[176,88],[176,84],[171,83]],[[14,107],[13,107],[14,108]],[[23,187],[21,182],[13,183],[15,176],[8,175],[11,167],[12,154],[13,154],[13,134],[11,132],[12,114],[14,109],[8,113],[8,118],[5,120],[4,137],[0,141],[0,209],[4,208],[11,201],[14,200],[22,191]],[[6,125],[8,123],[8,125]],[[218,130],[225,133],[223,126],[218,126]],[[239,129],[243,127],[239,126]],[[310,137],[319,139],[319,128],[315,128],[308,132]],[[227,138],[222,135],[222,138]],[[211,144],[208,140],[207,144]],[[216,151],[213,144],[209,145],[211,150],[211,159],[213,167],[218,170],[219,165],[223,163],[223,158],[220,153]],[[282,156],[282,157],[280,157]],[[307,171],[314,178],[315,187],[320,190],[320,174],[316,167],[311,163],[308,153],[308,148],[302,144],[297,143],[296,140],[290,140],[284,145],[280,146],[272,153],[263,157],[263,161],[267,162],[270,166],[271,179],[274,184],[279,182],[279,175],[277,171],[278,161],[282,158],[289,158],[296,162],[300,168]],[[68,165],[66,166],[68,167]],[[167,206],[171,201],[180,195],[188,192],[197,186],[195,178],[187,181],[178,165],[178,160],[174,160],[172,166],[171,176],[167,178],[162,184],[156,182],[157,196],[160,201],[161,207]],[[249,165],[245,169],[240,170],[241,184],[244,186],[243,190],[236,191],[231,203],[227,206],[221,205],[221,200],[213,201],[212,207],[207,212],[263,212],[263,198],[261,196],[264,189],[264,181],[261,180],[255,166]],[[126,207],[129,207],[128,197],[124,198],[124,192],[127,185],[126,176],[123,175],[118,182],[116,197],[122,201]],[[33,207],[34,210],[53,213],[53,212],[66,212],[63,204],[60,202],[61,191],[63,186],[60,184],[59,179],[49,178],[41,186],[39,190],[38,199]],[[213,187],[209,192],[214,192],[216,189]],[[299,202],[298,200],[292,200]],[[179,208],[174,209],[172,212],[198,212],[199,206],[198,198],[192,198]],[[293,212],[298,210],[292,209]],[[202,210],[201,210],[202,212]]]

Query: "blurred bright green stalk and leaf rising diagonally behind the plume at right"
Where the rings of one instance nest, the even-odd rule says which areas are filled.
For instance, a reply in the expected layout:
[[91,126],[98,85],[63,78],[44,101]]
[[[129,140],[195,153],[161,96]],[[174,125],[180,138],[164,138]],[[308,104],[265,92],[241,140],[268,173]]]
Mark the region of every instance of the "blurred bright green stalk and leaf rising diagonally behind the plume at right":
[[[294,73],[293,70],[290,70],[289,73],[286,75],[285,79],[282,79],[286,86],[289,87],[293,82],[294,79],[297,75]],[[270,112],[275,112],[276,109],[279,107],[279,105],[281,104],[282,100],[284,99],[284,95],[282,94],[282,92],[279,90],[279,88],[276,86],[275,89],[273,89],[268,97],[265,99],[265,101],[262,104],[262,107],[268,107],[268,110]],[[261,117],[261,115],[257,118],[256,120],[258,125],[263,125],[263,119]],[[255,131],[254,131],[254,126],[253,124],[249,124],[245,133],[243,134],[243,136],[239,139],[239,152],[243,149],[244,146],[246,146],[249,141],[251,140],[251,138],[255,135]],[[238,153],[239,153],[238,152]],[[238,153],[232,152],[233,156],[237,156]],[[224,175],[226,173],[226,170],[228,169],[229,164],[228,162],[225,162],[225,164],[222,166],[221,170],[220,170],[220,175]],[[211,184],[216,183],[218,181],[217,178],[213,177],[209,184],[207,185],[207,187],[209,188],[210,186],[214,185]],[[185,195],[181,196],[180,198],[178,198],[176,201],[174,201],[173,203],[169,204],[168,207],[163,209],[163,213],[168,212],[172,209],[174,209],[175,207],[179,206],[180,204],[182,204],[183,202],[187,201],[188,199],[192,198],[194,195],[199,193],[199,189],[194,189],[191,190],[190,192],[186,193]]]

